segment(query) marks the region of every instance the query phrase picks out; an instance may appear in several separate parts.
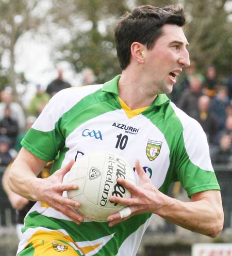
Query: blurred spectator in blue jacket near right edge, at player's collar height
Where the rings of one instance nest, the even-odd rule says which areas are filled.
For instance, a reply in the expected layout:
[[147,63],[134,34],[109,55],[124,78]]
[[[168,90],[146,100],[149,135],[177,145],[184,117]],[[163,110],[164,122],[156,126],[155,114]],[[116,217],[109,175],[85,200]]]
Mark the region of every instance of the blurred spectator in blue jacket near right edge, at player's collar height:
[[227,89],[225,86],[221,86],[217,95],[212,99],[210,112],[217,117],[219,123],[219,129],[225,127],[226,120],[226,107],[229,104],[229,98]]

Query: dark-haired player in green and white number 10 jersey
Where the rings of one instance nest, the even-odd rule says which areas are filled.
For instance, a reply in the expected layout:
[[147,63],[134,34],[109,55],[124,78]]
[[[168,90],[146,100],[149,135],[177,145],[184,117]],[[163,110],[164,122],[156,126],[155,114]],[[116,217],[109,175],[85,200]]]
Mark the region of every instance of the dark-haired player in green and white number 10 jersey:
[[[60,251],[71,256],[136,255],[153,213],[211,237],[220,233],[221,195],[206,135],[164,94],[172,92],[176,77],[190,65],[184,25],[179,8],[142,6],[126,13],[115,27],[122,75],[104,85],[65,89],[50,100],[9,173],[14,192],[38,201],[25,218],[19,256]],[[67,190],[77,189],[65,184],[73,159],[95,150],[136,162],[140,180],[133,186],[118,179],[132,198],[110,198],[128,207],[124,216],[109,216],[109,222],[84,220],[69,207],[80,204],[65,198]],[[54,158],[53,174],[36,178]],[[152,175],[142,167],[150,167]],[[192,202],[165,195],[177,180]]]

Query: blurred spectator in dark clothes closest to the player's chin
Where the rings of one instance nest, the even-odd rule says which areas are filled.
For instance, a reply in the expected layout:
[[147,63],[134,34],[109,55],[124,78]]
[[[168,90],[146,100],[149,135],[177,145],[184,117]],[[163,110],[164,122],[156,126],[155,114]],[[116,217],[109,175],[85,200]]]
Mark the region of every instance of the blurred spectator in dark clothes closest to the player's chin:
[[197,115],[198,98],[202,96],[202,81],[197,76],[190,79],[189,89],[181,95],[177,106],[191,117]]

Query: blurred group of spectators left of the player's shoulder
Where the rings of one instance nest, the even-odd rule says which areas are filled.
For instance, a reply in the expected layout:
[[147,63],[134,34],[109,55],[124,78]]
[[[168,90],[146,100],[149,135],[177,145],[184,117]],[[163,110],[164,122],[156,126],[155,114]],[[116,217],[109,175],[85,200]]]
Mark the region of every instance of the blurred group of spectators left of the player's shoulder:
[[47,85],[46,91],[37,84],[36,94],[26,108],[13,95],[10,86],[0,92],[0,166],[7,166],[15,158],[21,149],[21,140],[49,99],[61,89],[71,87],[70,83],[63,80],[62,74],[63,70],[58,69],[57,78]]

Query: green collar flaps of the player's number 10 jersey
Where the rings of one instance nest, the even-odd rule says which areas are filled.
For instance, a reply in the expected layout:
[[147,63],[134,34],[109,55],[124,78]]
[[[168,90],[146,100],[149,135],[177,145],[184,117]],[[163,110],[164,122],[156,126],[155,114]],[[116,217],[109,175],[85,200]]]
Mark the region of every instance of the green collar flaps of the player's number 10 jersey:
[[[102,87],[103,92],[107,93],[113,93],[117,96],[119,96],[119,91],[118,91],[118,82],[121,77],[121,74],[113,78],[112,80],[104,83]],[[158,94],[156,99],[153,101],[152,106],[161,106],[163,104],[167,104],[170,102],[170,99],[167,97],[165,94]]]

